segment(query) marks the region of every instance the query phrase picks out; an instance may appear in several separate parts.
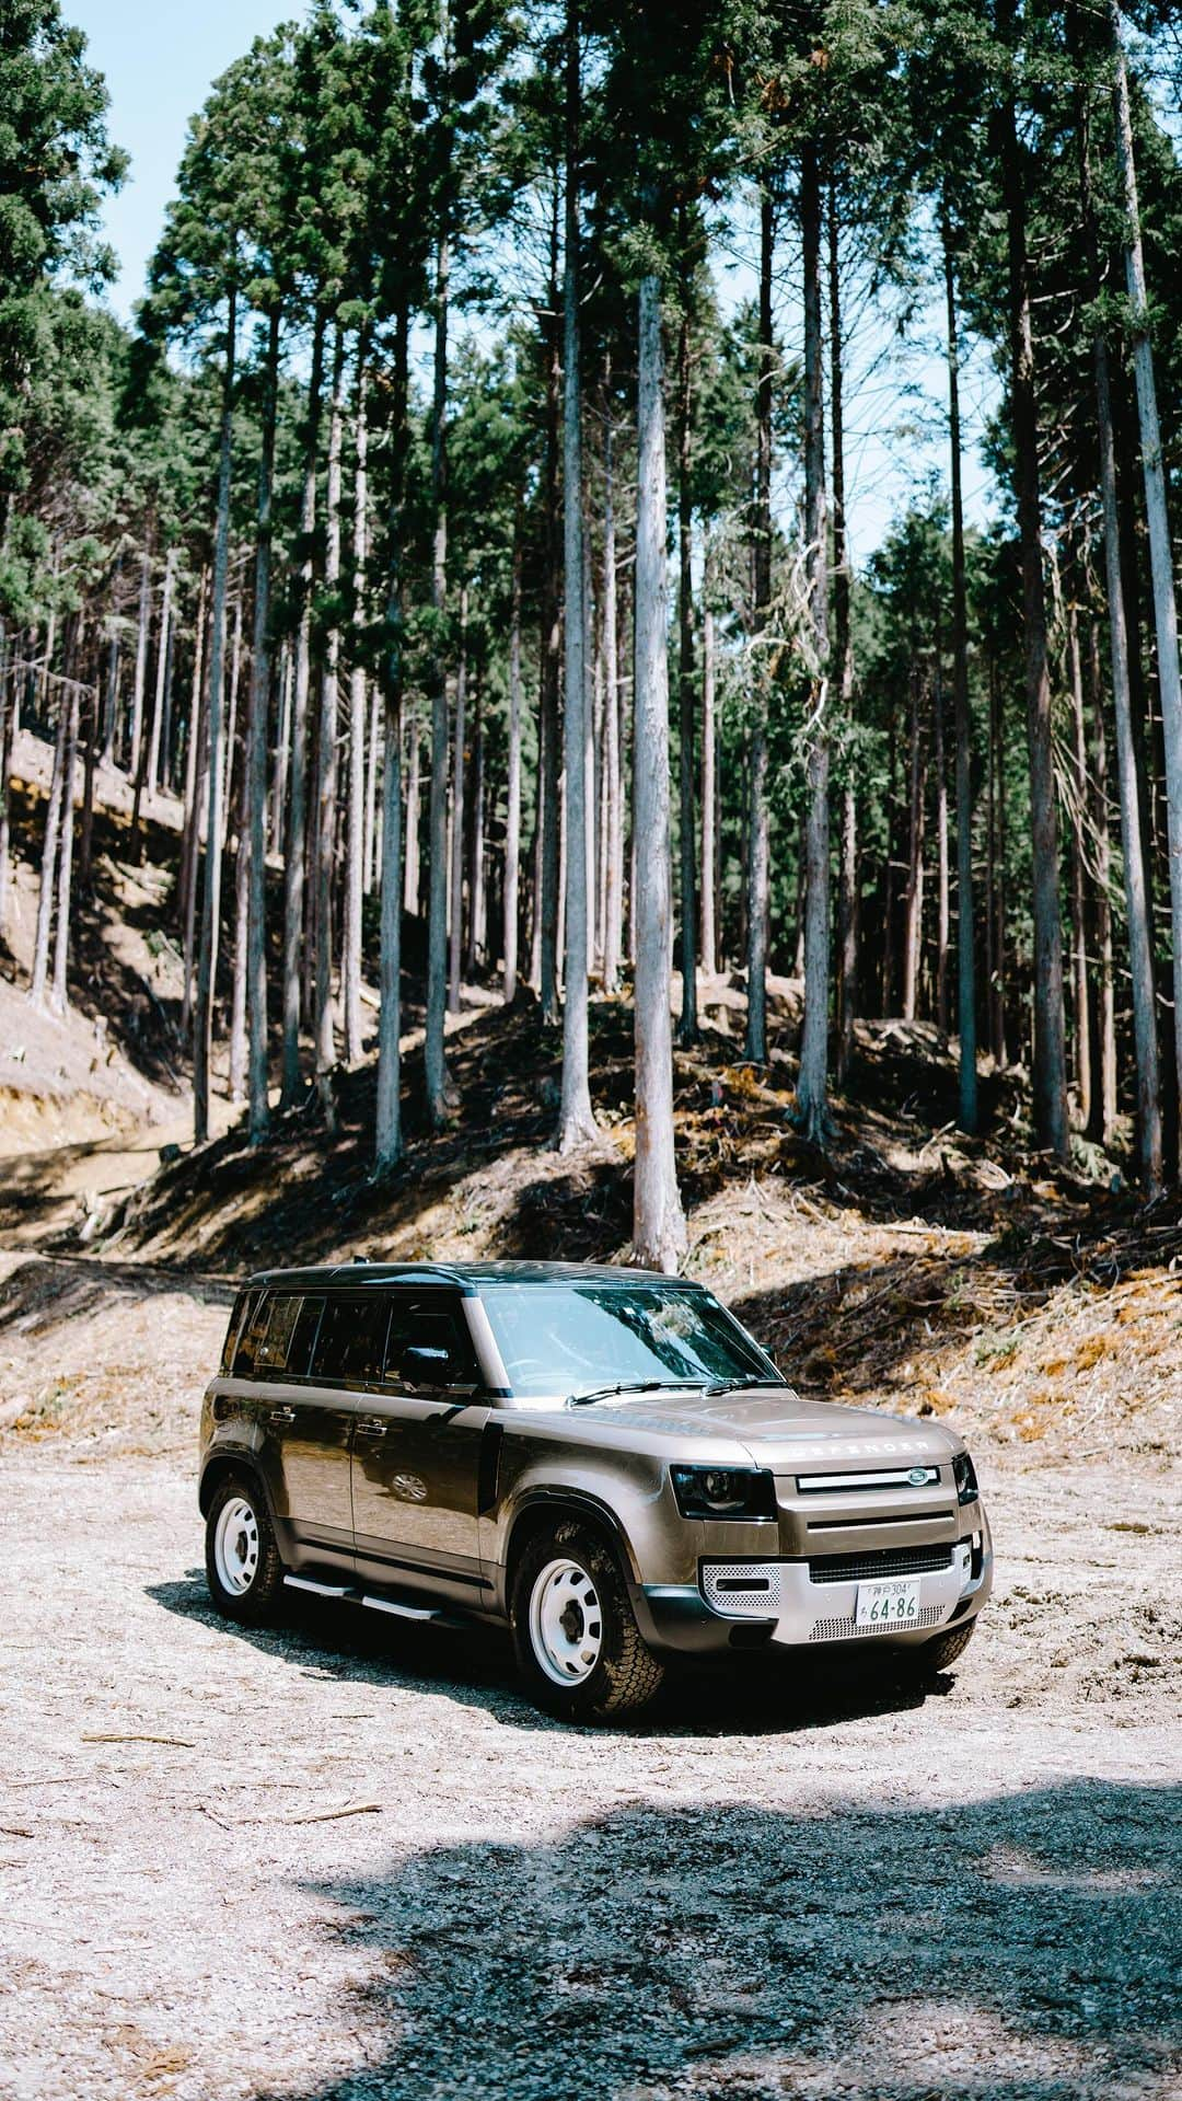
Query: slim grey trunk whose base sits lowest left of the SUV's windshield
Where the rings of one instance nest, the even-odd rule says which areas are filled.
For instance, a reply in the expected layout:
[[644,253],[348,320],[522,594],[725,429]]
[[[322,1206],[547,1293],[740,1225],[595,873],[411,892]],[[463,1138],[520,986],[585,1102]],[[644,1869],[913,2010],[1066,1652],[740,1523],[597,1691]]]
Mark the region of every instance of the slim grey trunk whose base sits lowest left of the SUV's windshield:
[[[391,490],[391,586],[386,599],[386,649],[382,658],[382,710],[386,763],[382,769],[382,880],[380,880],[380,964],[378,964],[378,1116],[374,1172],[388,1174],[403,1151],[401,1118],[401,937],[403,937],[403,494],[407,458],[407,357],[409,315],[399,309],[395,334],[395,450]],[[416,765],[418,733],[411,731]],[[409,813],[407,813],[409,826]],[[418,805],[416,805],[418,826]],[[409,847],[407,847],[409,861]],[[416,882],[418,908],[418,882]]]

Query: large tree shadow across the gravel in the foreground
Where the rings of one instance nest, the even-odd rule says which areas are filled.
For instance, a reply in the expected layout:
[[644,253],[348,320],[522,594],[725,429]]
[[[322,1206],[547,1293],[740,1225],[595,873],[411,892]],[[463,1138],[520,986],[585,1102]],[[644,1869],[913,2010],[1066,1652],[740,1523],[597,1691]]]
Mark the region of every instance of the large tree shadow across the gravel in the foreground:
[[1090,1780],[638,1805],[315,1882],[367,1979],[349,2069],[281,2101],[1165,2101],[1180,1811]]

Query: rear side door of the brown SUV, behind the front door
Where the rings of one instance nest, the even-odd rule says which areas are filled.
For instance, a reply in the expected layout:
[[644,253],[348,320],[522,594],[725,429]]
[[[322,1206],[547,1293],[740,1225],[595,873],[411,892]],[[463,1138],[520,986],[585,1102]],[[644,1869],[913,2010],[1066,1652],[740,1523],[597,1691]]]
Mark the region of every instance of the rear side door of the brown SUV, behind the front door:
[[325,1292],[269,1292],[239,1351],[250,1355],[260,1458],[290,1559],[351,1572],[355,1397],[317,1372],[328,1313]]

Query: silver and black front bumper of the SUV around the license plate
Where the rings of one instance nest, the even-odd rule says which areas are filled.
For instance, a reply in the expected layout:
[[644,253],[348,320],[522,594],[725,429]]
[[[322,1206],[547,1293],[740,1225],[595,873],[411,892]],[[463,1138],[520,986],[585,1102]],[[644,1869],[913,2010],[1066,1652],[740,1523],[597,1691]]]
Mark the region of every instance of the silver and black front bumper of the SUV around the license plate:
[[[867,1580],[878,1578],[867,1574]],[[993,1588],[989,1527],[976,1553],[968,1540],[957,1542],[947,1567],[917,1572],[917,1582],[920,1614],[907,1630],[859,1626],[859,1578],[815,1580],[808,1561],[703,1561],[697,1584],[647,1584],[634,1595],[634,1605],[647,1641],[682,1653],[800,1649],[831,1641],[913,1647],[945,1626],[972,1620],[985,1605]]]

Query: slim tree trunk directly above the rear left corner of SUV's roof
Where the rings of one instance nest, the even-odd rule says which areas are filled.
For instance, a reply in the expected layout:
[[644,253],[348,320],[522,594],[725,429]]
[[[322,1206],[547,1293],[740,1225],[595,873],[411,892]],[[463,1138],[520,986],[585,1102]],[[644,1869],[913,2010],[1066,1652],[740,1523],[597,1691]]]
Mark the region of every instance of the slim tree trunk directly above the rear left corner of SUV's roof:
[[258,513],[254,538],[254,647],[250,656],[250,712],[246,721],[246,824],[237,851],[246,847],[246,1011],[248,1011],[248,1132],[250,1143],[267,1137],[267,719],[271,708],[271,553],[275,487],[275,416],[279,393],[279,309],[267,315],[267,363],[262,368],[262,445],[258,452]]

